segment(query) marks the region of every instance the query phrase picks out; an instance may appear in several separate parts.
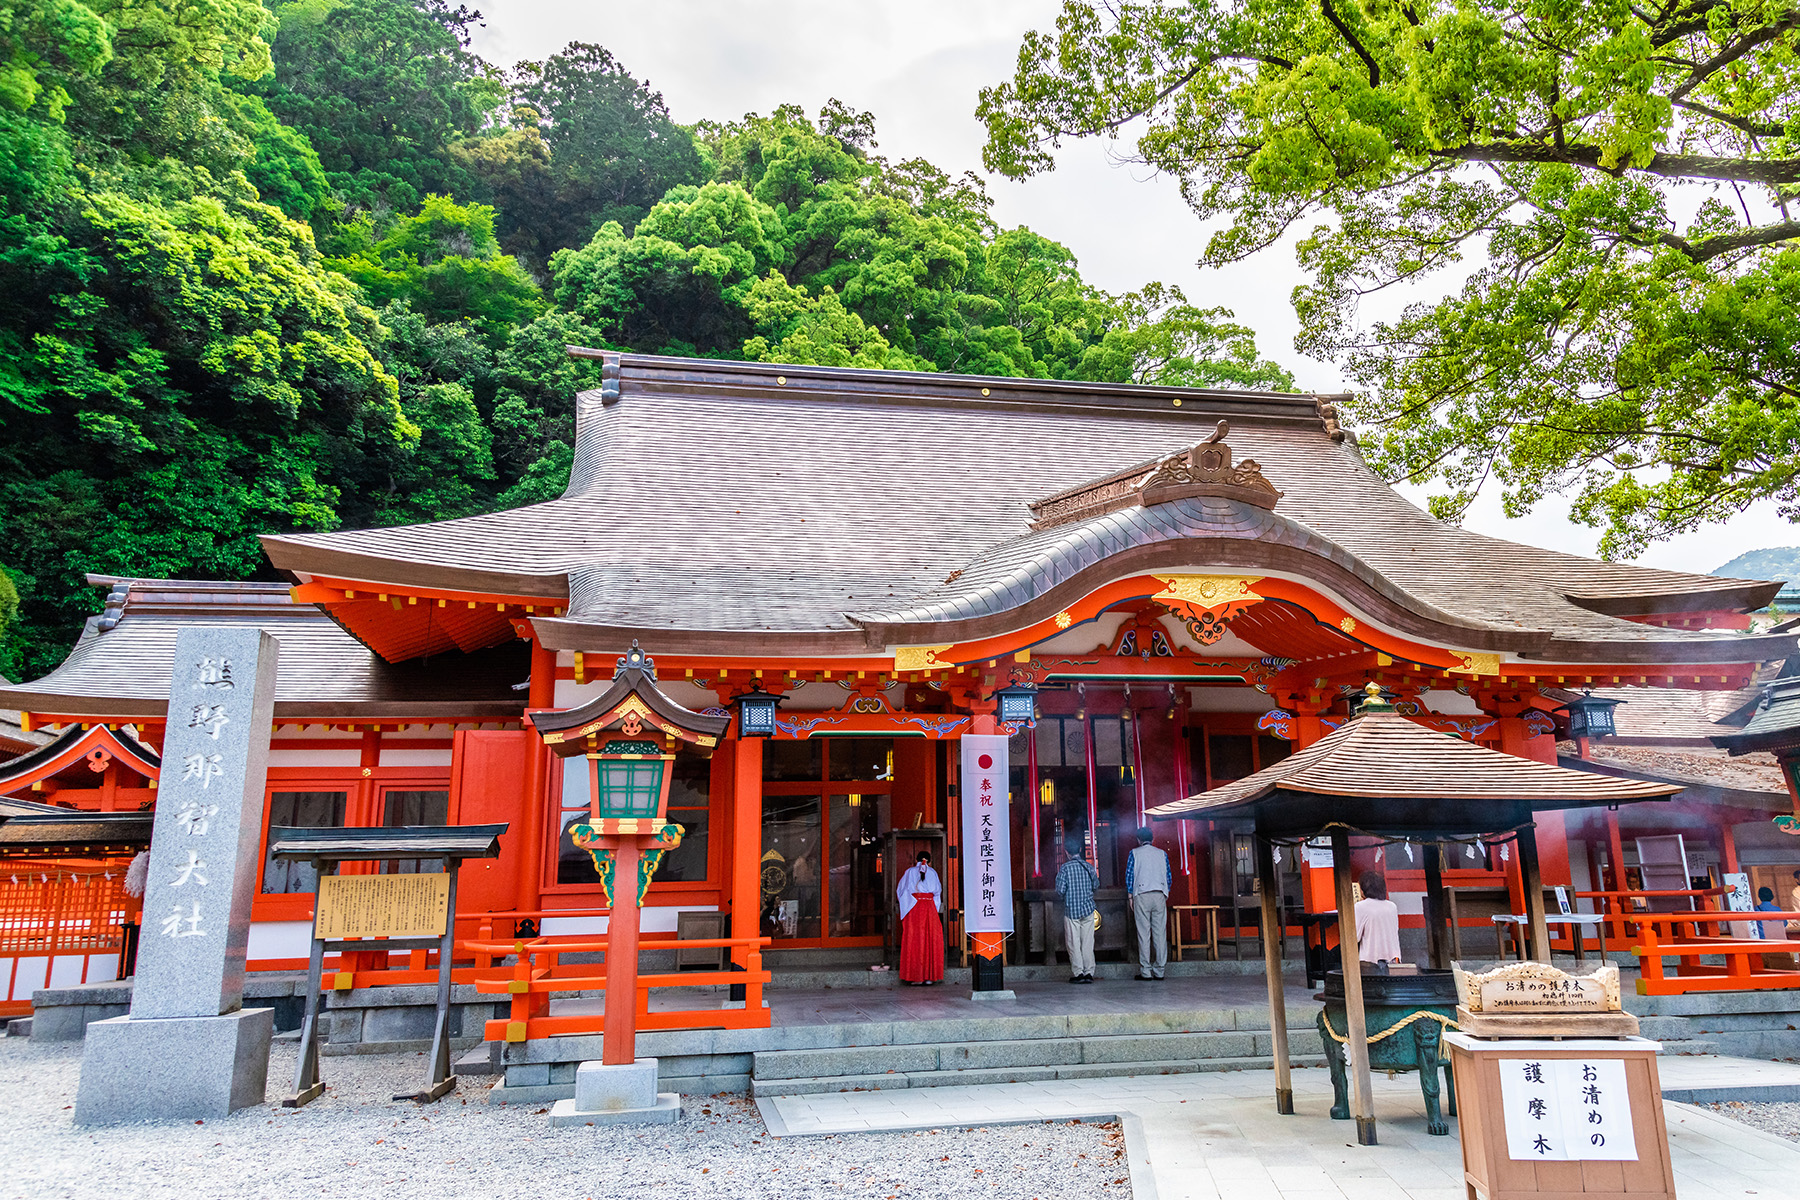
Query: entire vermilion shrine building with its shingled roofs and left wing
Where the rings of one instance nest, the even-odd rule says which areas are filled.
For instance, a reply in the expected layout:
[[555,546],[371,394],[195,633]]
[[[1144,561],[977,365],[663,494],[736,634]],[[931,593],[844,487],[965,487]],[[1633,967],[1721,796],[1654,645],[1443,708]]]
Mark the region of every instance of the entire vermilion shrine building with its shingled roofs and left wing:
[[[576,353],[603,358],[605,381],[578,399],[562,498],[265,538],[292,587],[97,579],[106,613],[0,707],[36,730],[133,725],[155,748],[175,631],[261,624],[281,640],[266,822],[506,820],[504,856],[464,869],[459,909],[592,932],[605,918],[554,916],[601,903],[565,835],[585,765],[524,714],[592,698],[637,640],[689,709],[781,696],[774,738],[733,727],[707,757],[679,754],[670,820],[688,835],[644,928],[724,912],[731,936],[875,957],[889,835],[936,826],[956,856],[963,734],[1012,734],[1015,952],[1040,952],[1060,946],[1044,928],[1067,837],[1121,909],[1147,808],[1316,741],[1372,680],[1431,729],[1548,763],[1570,689],[1741,689],[1795,651],[1750,631],[1780,583],[1433,520],[1363,462],[1332,398]],[[1035,725],[999,723],[1004,687],[1035,689]],[[121,792],[85,774],[5,786],[113,806]],[[1733,837],[1717,808],[1651,808],[1728,856],[1782,840],[1768,815]],[[1156,835],[1175,903],[1249,910],[1247,831]],[[1616,822],[1609,838],[1548,815],[1537,840],[1546,883],[1620,865]],[[1285,855],[1285,900],[1330,909],[1328,871],[1316,887]],[[1469,855],[1451,882],[1505,883],[1499,855]],[[1402,905],[1422,891],[1408,862],[1388,867]],[[302,959],[304,871],[265,862],[252,961]],[[954,864],[943,876],[954,918]],[[1123,925],[1103,921],[1102,945]]]

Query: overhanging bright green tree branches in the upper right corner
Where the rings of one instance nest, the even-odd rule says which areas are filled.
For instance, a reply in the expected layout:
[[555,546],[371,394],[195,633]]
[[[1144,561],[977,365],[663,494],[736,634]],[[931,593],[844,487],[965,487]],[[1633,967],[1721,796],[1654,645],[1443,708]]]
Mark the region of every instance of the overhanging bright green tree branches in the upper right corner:
[[[1575,491],[1602,551],[1800,509],[1800,14],[1755,0],[1067,0],[981,95],[990,167],[1136,135],[1229,263],[1300,243],[1300,349],[1458,516]],[[1321,218],[1321,219],[1319,219]],[[1472,272],[1357,324],[1363,297]]]

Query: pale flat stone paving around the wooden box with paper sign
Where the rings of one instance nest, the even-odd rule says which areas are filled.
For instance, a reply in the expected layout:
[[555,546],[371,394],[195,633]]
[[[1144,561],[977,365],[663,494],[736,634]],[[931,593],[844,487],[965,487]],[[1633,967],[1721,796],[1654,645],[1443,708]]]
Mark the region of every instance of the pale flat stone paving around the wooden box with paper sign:
[[[1800,1087],[1800,1067],[1665,1058],[1670,1090],[1733,1078]],[[1456,1135],[1426,1133],[1415,1076],[1375,1076],[1379,1146],[1332,1121],[1330,1078],[1294,1072],[1291,1117],[1274,1112],[1274,1072],[938,1087],[763,1097],[778,1137],[1121,1117],[1136,1200],[1465,1200]],[[1717,1114],[1665,1101],[1683,1200],[1800,1200],[1800,1146]]]

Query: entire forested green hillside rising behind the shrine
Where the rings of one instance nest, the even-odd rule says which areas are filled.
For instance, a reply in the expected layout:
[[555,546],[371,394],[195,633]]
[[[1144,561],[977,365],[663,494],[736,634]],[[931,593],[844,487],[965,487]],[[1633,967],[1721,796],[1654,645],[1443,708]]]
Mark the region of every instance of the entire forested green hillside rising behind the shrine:
[[554,497],[571,342],[1292,385],[837,103],[677,126],[596,45],[484,63],[443,0],[0,11],[0,675],[61,660],[86,572]]

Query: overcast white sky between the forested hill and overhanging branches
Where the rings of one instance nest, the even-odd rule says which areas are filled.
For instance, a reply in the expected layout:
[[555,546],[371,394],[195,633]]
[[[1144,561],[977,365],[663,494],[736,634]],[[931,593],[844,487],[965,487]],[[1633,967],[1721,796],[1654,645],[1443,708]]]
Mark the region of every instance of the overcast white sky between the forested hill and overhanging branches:
[[[479,0],[477,0],[479,4]],[[1012,72],[1026,29],[1049,29],[1058,0],[488,0],[475,49],[493,63],[545,58],[567,41],[605,45],[662,92],[677,121],[733,119],[837,97],[877,119],[889,158],[929,158],[945,171],[981,169],[977,92]],[[1188,299],[1224,304],[1256,329],[1262,353],[1287,365],[1307,390],[1337,390],[1332,363],[1294,353],[1289,293],[1300,282],[1292,245],[1229,270],[1201,272],[1208,228],[1181,201],[1174,180],[1121,166],[1102,142],[1067,148],[1051,175],[1012,184],[990,178],[1003,227],[1030,225],[1082,263],[1109,291],[1152,279]],[[1395,302],[1406,297],[1395,297]],[[1429,299],[1429,295],[1420,295]],[[1465,522],[1487,534],[1591,554],[1598,533],[1546,504],[1525,520],[1483,497]],[[1643,556],[1652,567],[1714,570],[1742,551],[1800,543],[1800,529],[1773,506],[1723,527],[1687,534]]]

